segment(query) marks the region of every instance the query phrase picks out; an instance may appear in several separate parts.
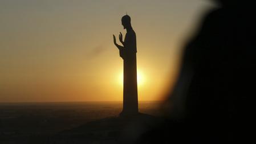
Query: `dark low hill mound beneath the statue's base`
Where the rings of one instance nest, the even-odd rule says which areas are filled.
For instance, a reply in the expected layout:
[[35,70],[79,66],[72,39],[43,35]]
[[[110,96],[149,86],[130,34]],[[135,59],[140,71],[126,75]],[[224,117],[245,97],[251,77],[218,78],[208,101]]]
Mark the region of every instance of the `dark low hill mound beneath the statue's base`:
[[140,143],[140,138],[160,119],[139,113],[132,117],[108,117],[62,131],[50,138],[51,143]]

